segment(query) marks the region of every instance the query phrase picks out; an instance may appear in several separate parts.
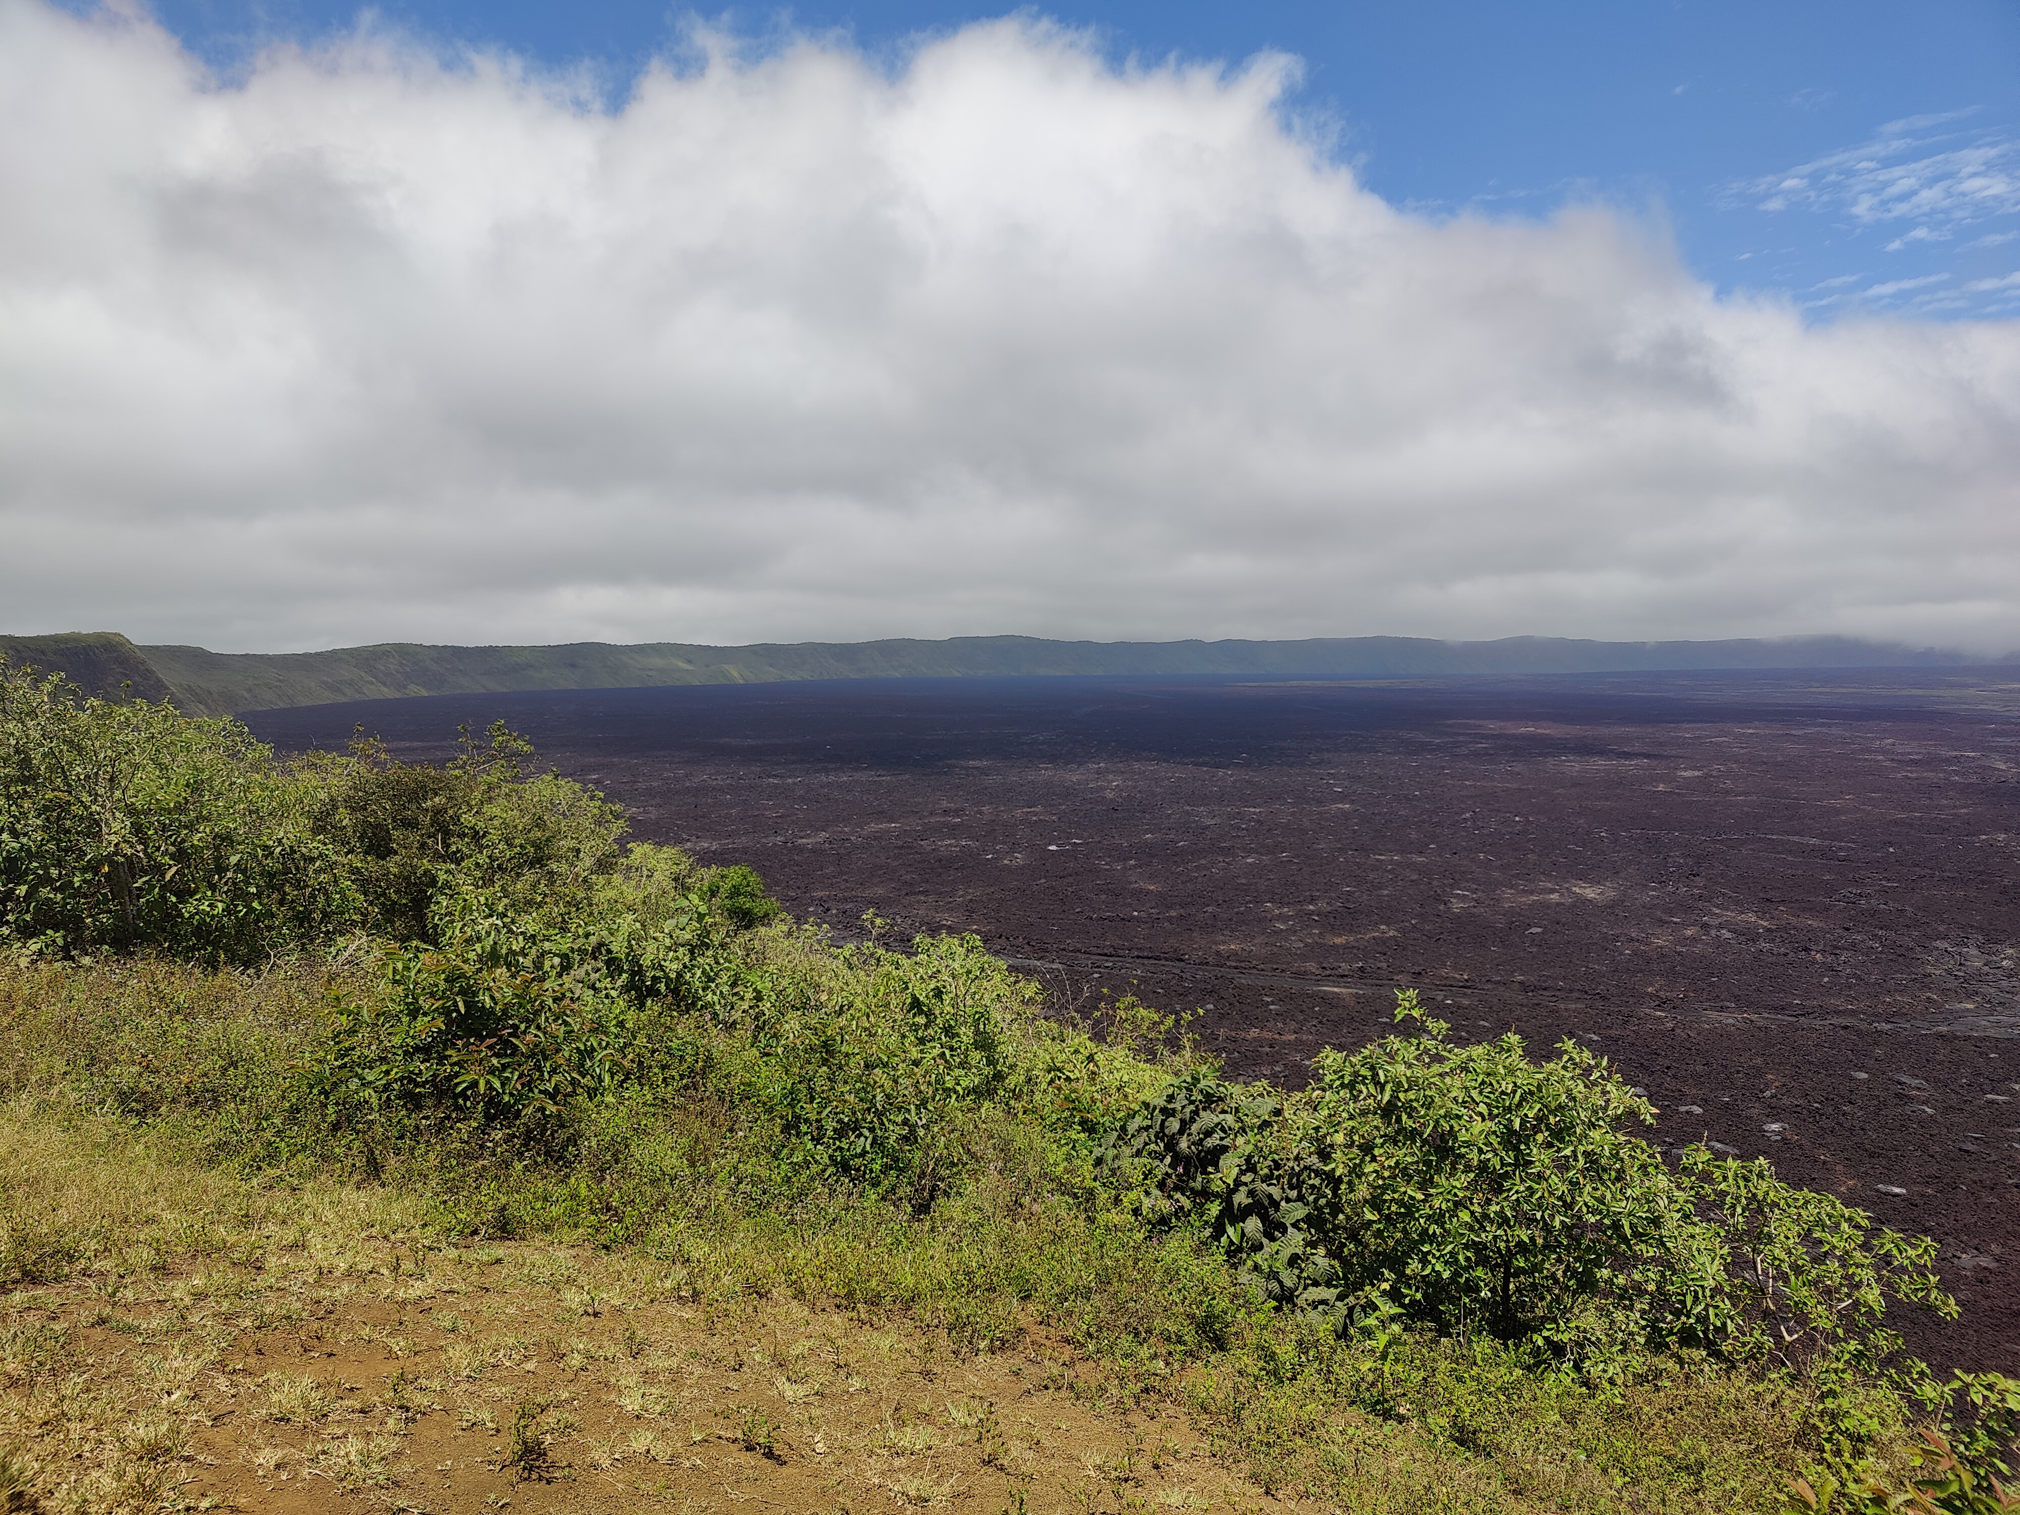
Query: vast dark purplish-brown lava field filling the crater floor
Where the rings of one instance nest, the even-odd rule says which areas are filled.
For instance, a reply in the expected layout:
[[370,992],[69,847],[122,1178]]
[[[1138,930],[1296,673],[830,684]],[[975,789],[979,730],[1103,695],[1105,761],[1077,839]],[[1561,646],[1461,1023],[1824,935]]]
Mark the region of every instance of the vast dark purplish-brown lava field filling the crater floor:
[[1299,1083],[1416,986],[1576,1036],[1658,1139],[1943,1242],[1939,1366],[2020,1368],[2020,669],[1412,685],[933,679],[319,705],[406,758],[503,717],[636,834],[858,935],[976,931]]

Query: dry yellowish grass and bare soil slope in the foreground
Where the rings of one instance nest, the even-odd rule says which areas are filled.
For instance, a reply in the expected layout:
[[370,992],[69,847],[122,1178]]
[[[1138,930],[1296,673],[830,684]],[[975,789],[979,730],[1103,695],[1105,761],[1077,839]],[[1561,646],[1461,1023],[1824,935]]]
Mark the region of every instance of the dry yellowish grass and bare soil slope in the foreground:
[[22,1511],[1768,1507],[1757,1483],[1650,1505],[1570,1442],[1475,1458],[1337,1398],[1277,1416],[1214,1364],[1145,1388],[1036,1321],[957,1349],[770,1285],[747,1246],[444,1246],[398,1192],[259,1188],[24,1105],[0,1149]]

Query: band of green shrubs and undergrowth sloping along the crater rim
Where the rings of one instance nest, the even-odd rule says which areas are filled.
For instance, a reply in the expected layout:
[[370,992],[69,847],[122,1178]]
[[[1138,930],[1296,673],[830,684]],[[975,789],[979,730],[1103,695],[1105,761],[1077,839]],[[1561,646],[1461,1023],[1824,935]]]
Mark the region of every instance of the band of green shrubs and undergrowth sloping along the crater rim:
[[[12,1109],[392,1186],[444,1236],[739,1256],[735,1287],[960,1349],[1042,1325],[1347,1507],[1386,1507],[1370,1426],[1483,1509],[2004,1507],[2020,1384],[1939,1384],[1889,1329],[1955,1311],[1933,1244],[1763,1162],[1666,1162],[1576,1044],[1464,1044],[1404,996],[1311,1089],[1230,1085],[974,937],[836,945],[529,760],[495,727],[440,768],[279,762],[0,669]],[[93,1267],[18,1182],[0,1285]],[[1539,1483],[1545,1448],[1578,1477]]]

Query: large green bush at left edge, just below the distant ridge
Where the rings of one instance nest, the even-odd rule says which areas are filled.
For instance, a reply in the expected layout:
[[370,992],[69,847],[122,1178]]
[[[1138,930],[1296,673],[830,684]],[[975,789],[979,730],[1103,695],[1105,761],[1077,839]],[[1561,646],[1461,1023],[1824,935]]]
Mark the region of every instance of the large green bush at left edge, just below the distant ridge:
[[354,913],[299,786],[242,725],[0,665],[0,933],[250,964]]

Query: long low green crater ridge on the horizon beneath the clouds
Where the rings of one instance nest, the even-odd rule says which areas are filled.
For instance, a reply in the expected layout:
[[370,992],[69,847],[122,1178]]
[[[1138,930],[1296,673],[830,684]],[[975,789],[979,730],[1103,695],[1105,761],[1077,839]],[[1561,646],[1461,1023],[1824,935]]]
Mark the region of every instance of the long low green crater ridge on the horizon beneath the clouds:
[[[566,646],[424,646],[380,642],[329,652],[210,652],[135,646],[117,632],[0,636],[0,654],[67,673],[93,693],[121,685],[174,699],[192,715],[329,705],[406,695],[525,689],[780,683],[790,679],[957,677],[1220,677],[1438,679],[1687,669],[1963,667],[1961,652],[1790,636],[1725,642],[1590,642],[1505,636],[1438,642],[1424,636],[1317,636],[1299,642],[1052,642],[1042,636],[951,636],[883,642],[570,642]],[[2010,654],[2004,661],[2012,661]]]

